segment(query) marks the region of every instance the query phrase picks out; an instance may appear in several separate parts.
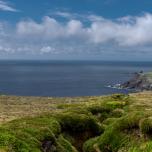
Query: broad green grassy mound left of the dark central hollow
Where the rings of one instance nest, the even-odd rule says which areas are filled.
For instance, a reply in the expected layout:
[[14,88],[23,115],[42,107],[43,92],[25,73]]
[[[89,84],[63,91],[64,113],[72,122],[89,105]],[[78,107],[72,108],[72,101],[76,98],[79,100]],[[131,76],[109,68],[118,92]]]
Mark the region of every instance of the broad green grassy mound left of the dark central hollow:
[[[1,151],[66,151],[59,123],[51,117],[14,120],[0,128]],[[74,151],[70,143],[67,147]],[[73,150],[72,150],[73,149]]]

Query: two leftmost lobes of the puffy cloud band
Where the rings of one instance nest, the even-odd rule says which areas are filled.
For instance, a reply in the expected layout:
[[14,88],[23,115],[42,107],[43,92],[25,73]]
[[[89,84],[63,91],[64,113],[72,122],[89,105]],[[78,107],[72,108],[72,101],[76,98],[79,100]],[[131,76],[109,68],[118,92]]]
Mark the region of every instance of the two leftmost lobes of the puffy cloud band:
[[36,23],[32,20],[21,21],[17,24],[17,34],[19,36],[32,36],[44,40],[62,37],[63,27],[55,19],[44,17],[42,23]]

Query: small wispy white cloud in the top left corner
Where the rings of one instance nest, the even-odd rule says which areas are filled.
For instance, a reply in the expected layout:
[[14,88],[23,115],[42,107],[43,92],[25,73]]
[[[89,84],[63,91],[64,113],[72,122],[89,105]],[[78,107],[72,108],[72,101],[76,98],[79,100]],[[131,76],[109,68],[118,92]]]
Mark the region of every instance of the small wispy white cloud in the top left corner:
[[17,12],[18,10],[11,7],[7,2],[0,0],[0,10],[1,11],[10,11]]

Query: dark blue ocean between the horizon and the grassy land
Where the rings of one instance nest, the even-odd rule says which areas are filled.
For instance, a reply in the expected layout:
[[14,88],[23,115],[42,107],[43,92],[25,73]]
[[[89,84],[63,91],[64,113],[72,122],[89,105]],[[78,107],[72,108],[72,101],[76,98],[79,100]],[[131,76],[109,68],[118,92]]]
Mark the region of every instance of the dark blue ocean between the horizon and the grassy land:
[[0,93],[23,96],[94,96],[128,93],[108,88],[134,72],[152,71],[152,62],[0,61]]

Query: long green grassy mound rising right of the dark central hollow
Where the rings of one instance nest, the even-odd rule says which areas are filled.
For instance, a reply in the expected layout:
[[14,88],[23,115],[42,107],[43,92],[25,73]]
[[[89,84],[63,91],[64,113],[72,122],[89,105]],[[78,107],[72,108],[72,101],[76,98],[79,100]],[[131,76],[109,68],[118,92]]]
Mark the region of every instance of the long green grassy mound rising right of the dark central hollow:
[[142,117],[140,113],[131,113],[115,119],[102,135],[86,141],[84,151],[116,152],[123,147],[127,149],[127,146],[133,144],[134,138],[138,136],[139,121]]

